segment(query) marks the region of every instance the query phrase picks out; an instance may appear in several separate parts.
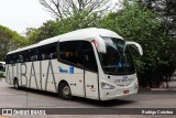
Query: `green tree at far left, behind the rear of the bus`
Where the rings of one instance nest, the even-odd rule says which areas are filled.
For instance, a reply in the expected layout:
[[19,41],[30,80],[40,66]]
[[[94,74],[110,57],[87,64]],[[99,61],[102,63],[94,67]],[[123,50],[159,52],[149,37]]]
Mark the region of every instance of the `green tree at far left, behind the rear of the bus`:
[[25,44],[26,41],[23,36],[19,35],[15,31],[0,25],[0,61],[4,61],[9,51],[15,50]]

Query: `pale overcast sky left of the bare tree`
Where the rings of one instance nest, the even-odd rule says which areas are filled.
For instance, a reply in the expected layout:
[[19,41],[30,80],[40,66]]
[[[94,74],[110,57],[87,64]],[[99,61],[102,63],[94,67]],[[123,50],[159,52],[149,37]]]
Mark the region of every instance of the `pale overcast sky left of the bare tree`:
[[0,0],[0,25],[22,35],[26,28],[38,28],[53,19],[38,0]]

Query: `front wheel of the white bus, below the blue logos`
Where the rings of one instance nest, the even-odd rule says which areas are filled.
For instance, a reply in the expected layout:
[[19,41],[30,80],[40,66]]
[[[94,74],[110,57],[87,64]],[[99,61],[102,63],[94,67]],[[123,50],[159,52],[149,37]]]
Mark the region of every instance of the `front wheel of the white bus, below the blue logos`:
[[58,95],[65,100],[69,100],[73,98],[70,87],[66,82],[61,83],[61,85],[58,86]]

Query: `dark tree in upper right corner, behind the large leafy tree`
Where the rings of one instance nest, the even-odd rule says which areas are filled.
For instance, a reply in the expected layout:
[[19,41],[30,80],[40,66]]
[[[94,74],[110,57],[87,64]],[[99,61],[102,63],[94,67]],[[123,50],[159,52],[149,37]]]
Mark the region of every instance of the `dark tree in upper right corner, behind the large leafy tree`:
[[160,14],[167,32],[176,35],[176,0],[139,0],[139,2]]

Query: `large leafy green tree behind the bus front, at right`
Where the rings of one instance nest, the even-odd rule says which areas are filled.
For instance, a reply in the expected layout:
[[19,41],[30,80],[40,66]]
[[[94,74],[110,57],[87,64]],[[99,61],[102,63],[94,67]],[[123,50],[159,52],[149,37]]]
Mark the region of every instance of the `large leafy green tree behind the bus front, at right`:
[[108,14],[100,26],[142,45],[144,55],[135,58],[141,86],[158,87],[176,69],[176,39],[153,11],[125,0],[123,9]]

